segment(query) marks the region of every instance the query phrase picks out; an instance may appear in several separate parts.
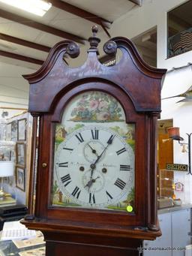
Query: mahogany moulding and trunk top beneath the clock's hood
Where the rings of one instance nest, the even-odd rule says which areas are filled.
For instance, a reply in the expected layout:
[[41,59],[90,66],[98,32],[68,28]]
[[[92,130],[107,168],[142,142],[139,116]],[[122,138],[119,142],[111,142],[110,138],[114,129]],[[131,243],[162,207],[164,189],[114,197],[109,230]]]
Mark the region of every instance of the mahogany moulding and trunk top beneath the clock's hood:
[[46,241],[46,256],[134,256],[142,250],[143,239],[154,239],[160,231],[154,232],[142,227],[82,226],[78,223],[58,221],[23,221],[28,228],[42,230]]

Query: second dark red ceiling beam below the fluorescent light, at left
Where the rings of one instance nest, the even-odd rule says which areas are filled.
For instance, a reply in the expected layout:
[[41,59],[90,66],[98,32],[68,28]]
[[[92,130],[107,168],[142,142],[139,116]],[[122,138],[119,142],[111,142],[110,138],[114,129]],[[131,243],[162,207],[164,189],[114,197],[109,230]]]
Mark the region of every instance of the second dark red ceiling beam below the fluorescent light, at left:
[[23,40],[23,39],[20,39],[20,38],[12,37],[10,35],[5,35],[3,33],[0,33],[0,40],[11,42],[13,44],[20,44],[20,45],[23,45],[23,47],[34,48],[36,50],[41,50],[41,51],[46,52],[46,53],[49,53],[49,50],[51,50],[50,47],[46,47],[42,44],[36,44],[36,43],[26,41],[26,40]]

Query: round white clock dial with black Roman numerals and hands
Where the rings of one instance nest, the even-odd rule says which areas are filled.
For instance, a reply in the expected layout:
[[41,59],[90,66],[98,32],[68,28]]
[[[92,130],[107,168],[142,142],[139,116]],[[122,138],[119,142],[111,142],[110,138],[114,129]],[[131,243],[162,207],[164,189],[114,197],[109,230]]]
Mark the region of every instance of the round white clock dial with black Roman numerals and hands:
[[114,131],[95,125],[81,128],[58,146],[58,187],[80,206],[118,203],[132,185],[133,161],[133,150]]

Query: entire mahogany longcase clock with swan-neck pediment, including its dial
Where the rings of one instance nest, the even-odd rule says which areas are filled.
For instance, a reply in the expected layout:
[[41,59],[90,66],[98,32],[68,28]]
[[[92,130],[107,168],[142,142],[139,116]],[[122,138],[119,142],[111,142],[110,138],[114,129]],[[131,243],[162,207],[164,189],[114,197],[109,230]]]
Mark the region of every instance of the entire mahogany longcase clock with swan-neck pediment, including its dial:
[[34,122],[29,212],[22,222],[43,232],[48,256],[139,255],[143,239],[161,234],[157,118],[166,70],[148,66],[121,37],[104,44],[112,56],[120,49],[121,60],[102,65],[95,26],[92,32],[81,67],[65,64],[65,54],[76,58],[80,50],[62,41],[39,71],[23,76]]

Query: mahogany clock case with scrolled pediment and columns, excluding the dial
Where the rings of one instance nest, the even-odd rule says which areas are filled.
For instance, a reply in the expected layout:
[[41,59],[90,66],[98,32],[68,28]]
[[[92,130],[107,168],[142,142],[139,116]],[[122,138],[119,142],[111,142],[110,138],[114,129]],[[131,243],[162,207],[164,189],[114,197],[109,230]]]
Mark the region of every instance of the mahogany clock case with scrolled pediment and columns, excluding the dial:
[[[100,40],[93,32],[83,66],[65,65],[63,55],[68,53],[75,58],[79,47],[74,42],[62,41],[52,48],[39,71],[24,76],[30,83],[29,111],[40,115],[40,131],[34,212],[26,216],[23,224],[43,232],[46,255],[61,255],[61,251],[71,256],[104,255],[107,251],[112,255],[137,255],[142,239],[160,236],[156,208],[156,125],[160,114],[160,82],[166,70],[146,65],[127,38],[113,38],[104,45],[107,54],[114,55],[119,48],[122,57],[112,67],[101,65],[97,57]],[[91,90],[113,95],[124,108],[126,122],[136,126],[133,214],[51,205],[53,124],[60,122],[71,98]]]

